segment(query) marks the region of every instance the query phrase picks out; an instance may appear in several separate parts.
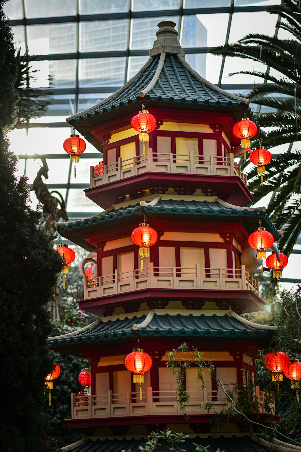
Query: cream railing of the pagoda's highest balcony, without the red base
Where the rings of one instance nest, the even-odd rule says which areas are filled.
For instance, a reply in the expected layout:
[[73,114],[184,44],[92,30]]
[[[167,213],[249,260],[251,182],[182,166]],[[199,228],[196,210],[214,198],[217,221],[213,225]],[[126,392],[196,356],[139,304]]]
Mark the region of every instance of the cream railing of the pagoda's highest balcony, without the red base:
[[233,154],[227,157],[194,155],[193,151],[189,154],[165,154],[148,149],[145,157],[138,155],[126,160],[118,158],[117,162],[104,165],[103,174],[99,169],[94,171],[94,167],[90,166],[90,188],[148,171],[238,176],[247,184],[247,177],[241,172],[240,165],[234,162]]

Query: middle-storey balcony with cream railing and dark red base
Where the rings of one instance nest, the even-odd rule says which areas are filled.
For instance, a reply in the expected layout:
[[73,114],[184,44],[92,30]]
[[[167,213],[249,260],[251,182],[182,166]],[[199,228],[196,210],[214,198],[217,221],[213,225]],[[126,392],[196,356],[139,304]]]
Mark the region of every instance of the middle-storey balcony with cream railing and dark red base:
[[[84,278],[84,299],[80,309],[96,315],[111,315],[113,307],[133,312],[141,302],[180,300],[187,309],[201,309],[205,301],[215,301],[221,309],[235,308],[238,314],[264,309],[258,280],[241,268],[154,267],[140,268],[88,280]],[[124,304],[126,303],[126,304]],[[203,303],[203,304],[202,304]],[[139,305],[139,306],[138,306]],[[163,305],[162,305],[163,306]],[[109,308],[109,311],[107,310]],[[107,311],[106,311],[107,310]]]

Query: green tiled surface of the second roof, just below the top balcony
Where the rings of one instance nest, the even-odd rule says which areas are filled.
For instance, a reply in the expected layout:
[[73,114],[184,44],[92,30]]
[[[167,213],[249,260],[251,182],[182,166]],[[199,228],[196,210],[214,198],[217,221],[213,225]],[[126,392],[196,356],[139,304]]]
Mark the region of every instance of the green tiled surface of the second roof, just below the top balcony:
[[[108,209],[109,210],[109,209]],[[69,222],[69,223],[60,223],[57,226],[57,231],[59,233],[64,233],[68,231],[72,231],[79,228],[85,228],[88,226],[102,224],[106,221],[112,221],[120,219],[122,220],[125,217],[131,217],[132,215],[137,214],[169,214],[171,216],[176,215],[193,215],[195,219],[198,220],[206,220],[210,221],[210,217],[231,217],[233,221],[248,221],[245,225],[247,230],[250,228],[249,232],[254,231],[254,224],[250,224],[250,219],[253,217],[261,218],[263,221],[264,227],[266,227],[269,231],[273,233],[275,237],[278,239],[280,235],[276,228],[273,226],[273,223],[270,221],[269,217],[266,213],[261,212],[258,209],[248,210],[248,209],[240,209],[240,208],[230,208],[224,207],[218,201],[209,202],[209,201],[175,201],[175,200],[166,200],[160,199],[155,206],[145,206],[142,207],[140,204],[137,204],[133,207],[121,207],[118,210],[111,210],[110,212],[102,212],[95,217],[86,218],[84,220]],[[155,217],[155,216],[153,216]],[[206,217],[206,218],[204,218]],[[181,218],[183,220],[183,218]]]

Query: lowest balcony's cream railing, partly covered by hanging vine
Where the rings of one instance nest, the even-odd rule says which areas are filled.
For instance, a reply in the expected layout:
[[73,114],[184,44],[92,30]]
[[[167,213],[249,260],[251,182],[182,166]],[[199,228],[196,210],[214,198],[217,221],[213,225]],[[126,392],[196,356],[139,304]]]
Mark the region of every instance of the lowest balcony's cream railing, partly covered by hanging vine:
[[[191,414],[213,414],[205,410],[210,402],[215,411],[221,410],[227,404],[227,396],[223,391],[187,391],[190,396],[185,405],[185,411]],[[259,391],[256,386],[254,397],[259,401],[259,413],[264,413],[264,402],[269,400],[272,413],[275,414],[274,392]],[[108,391],[103,395],[88,395],[78,397],[71,394],[71,419],[93,419],[111,417],[130,417],[141,415],[176,415],[183,414],[176,401],[176,391],[153,391],[146,388],[140,400],[139,392],[113,394]]]

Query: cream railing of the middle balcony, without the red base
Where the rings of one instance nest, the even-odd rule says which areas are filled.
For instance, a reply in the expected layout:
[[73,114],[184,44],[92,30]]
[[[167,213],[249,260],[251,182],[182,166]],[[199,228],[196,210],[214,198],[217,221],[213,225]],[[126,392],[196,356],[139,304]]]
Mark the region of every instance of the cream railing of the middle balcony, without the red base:
[[201,268],[195,267],[154,267],[152,262],[141,272],[140,269],[108,276],[99,276],[95,280],[84,277],[84,299],[114,295],[146,288],[153,289],[218,289],[251,290],[259,295],[258,280],[241,268]]

